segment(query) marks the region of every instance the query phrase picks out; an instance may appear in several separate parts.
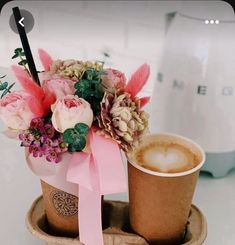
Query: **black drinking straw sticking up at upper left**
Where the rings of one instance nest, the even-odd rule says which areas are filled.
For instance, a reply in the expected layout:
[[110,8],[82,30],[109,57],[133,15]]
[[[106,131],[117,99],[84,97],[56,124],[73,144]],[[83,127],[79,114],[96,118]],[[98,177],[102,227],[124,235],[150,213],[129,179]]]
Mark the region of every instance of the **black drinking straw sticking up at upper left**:
[[19,24],[19,21],[22,19],[21,14],[20,14],[20,9],[18,7],[15,7],[12,9],[13,10],[13,14],[14,14],[14,18],[15,18],[15,22],[16,22],[16,26],[20,35],[20,40],[24,49],[24,53],[26,56],[26,60],[29,66],[29,71],[33,77],[33,80],[40,85],[40,81],[38,78],[38,73],[37,73],[37,69],[33,60],[33,56],[32,56],[32,52],[29,46],[29,41],[25,32],[25,29],[22,25]]

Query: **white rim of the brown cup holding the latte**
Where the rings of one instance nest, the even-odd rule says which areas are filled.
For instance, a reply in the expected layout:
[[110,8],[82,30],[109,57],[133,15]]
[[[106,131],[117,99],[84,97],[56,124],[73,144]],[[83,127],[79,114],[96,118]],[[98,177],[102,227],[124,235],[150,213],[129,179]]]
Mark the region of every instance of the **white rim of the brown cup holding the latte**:
[[152,171],[150,169],[146,169],[142,166],[140,166],[139,164],[133,162],[129,157],[128,157],[128,154],[126,154],[126,157],[127,157],[127,160],[128,162],[135,168],[139,169],[140,171],[144,172],[144,173],[147,173],[147,174],[150,174],[150,175],[154,175],[154,176],[159,176],[159,177],[169,177],[169,178],[173,178],[173,177],[181,177],[181,176],[186,176],[186,175],[190,175],[192,173],[195,173],[196,171],[198,171],[199,169],[201,169],[201,167],[203,166],[203,164],[205,163],[205,160],[206,160],[206,154],[205,154],[205,151],[202,149],[202,147],[196,143],[195,141],[193,141],[192,139],[190,138],[187,138],[187,137],[184,137],[182,135],[179,135],[179,134],[174,134],[174,133],[168,133],[168,132],[159,132],[159,133],[156,133],[156,134],[149,134],[149,135],[146,135],[145,137],[148,137],[148,136],[173,136],[173,137],[177,137],[177,138],[180,138],[184,141],[187,141],[191,144],[193,144],[201,153],[202,155],[202,160],[201,162],[194,168],[192,169],[189,169],[187,171],[184,171],[184,172],[178,172],[178,173],[161,173],[161,172],[156,172],[156,171]]

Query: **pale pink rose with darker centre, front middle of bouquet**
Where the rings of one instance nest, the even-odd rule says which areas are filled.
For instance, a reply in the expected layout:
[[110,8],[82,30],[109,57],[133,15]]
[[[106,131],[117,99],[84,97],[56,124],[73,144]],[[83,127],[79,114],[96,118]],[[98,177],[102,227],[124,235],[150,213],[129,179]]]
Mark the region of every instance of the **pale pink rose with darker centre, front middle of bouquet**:
[[93,122],[93,111],[90,104],[76,95],[67,95],[52,105],[52,124],[58,132],[74,128],[77,123],[85,123],[89,127]]

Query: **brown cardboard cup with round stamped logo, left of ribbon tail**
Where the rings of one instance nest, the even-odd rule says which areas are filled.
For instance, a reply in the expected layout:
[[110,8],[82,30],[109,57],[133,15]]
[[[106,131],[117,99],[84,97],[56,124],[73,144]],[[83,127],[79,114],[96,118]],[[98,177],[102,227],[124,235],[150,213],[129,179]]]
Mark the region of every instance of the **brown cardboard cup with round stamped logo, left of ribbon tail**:
[[41,186],[50,232],[57,236],[78,236],[78,198],[42,180]]

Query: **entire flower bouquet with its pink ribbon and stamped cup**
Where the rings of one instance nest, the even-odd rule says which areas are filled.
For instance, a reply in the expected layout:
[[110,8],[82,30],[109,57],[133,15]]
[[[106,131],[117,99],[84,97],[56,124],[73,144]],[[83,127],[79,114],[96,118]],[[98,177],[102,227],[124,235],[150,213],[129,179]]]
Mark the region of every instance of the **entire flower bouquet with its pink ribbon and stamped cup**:
[[[142,65],[125,75],[102,62],[53,60],[44,50],[44,71],[35,79],[21,48],[12,66],[21,90],[0,83],[0,118],[20,140],[28,166],[42,181],[52,231],[102,244],[102,195],[126,191],[121,150],[129,152],[148,130],[137,94],[149,77]],[[79,228],[78,228],[79,227]],[[90,233],[93,236],[90,236]]]

